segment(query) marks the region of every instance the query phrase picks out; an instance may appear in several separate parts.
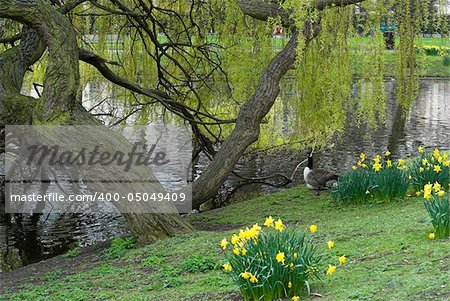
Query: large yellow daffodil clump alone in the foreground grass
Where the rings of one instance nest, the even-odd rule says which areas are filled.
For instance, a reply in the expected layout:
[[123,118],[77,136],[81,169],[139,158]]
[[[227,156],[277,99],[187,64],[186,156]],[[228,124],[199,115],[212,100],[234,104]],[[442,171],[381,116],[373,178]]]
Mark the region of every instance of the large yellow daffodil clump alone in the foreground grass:
[[[316,233],[317,225],[311,225],[309,232]],[[333,274],[336,265],[346,262],[342,255],[335,258],[336,264],[322,268],[324,256],[317,254],[313,236],[298,228],[287,229],[280,219],[269,216],[262,227],[255,224],[220,242],[227,257],[223,269],[231,274],[245,300],[300,300],[311,280]],[[335,247],[332,241],[326,245]]]

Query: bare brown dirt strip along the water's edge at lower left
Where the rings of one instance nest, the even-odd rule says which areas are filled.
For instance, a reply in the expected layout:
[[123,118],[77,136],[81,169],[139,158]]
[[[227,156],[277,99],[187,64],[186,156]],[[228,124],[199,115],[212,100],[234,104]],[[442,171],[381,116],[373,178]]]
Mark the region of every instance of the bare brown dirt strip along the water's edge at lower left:
[[100,265],[102,261],[101,251],[109,243],[101,243],[80,249],[80,254],[69,258],[59,255],[47,260],[26,265],[16,270],[0,274],[0,293],[20,291],[24,285],[39,285],[45,282],[44,275],[48,272],[59,270],[62,277],[85,272]]

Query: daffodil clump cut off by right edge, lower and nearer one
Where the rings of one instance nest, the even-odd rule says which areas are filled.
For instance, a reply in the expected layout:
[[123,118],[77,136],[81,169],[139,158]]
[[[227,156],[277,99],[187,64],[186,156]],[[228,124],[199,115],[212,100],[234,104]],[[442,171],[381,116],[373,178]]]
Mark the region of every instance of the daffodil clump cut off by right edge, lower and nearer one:
[[421,191],[424,197],[424,205],[433,224],[434,233],[428,238],[434,239],[449,237],[450,235],[450,196],[443,190],[438,182],[428,183]]

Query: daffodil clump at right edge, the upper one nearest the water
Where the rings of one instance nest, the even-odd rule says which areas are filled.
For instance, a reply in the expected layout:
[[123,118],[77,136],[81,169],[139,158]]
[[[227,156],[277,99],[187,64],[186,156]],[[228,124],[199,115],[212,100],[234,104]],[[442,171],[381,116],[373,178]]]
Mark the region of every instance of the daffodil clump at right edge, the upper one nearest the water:
[[441,153],[435,148],[427,152],[423,147],[417,149],[419,156],[410,167],[411,184],[417,195],[428,183],[438,182],[442,190],[447,191],[450,185],[450,158],[448,153]]

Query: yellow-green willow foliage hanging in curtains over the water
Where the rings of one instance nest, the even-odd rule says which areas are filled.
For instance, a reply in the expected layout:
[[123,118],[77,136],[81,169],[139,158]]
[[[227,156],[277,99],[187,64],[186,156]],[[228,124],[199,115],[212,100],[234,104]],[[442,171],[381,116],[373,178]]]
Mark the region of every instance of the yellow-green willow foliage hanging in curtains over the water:
[[[300,30],[296,66],[281,83],[285,91],[261,126],[261,147],[295,141],[325,144],[343,131],[349,113],[370,128],[385,121],[387,62],[380,23],[387,17],[398,27],[398,46],[390,51],[396,55],[396,66],[388,67],[396,70],[397,98],[405,109],[418,92],[421,61],[415,47],[421,41],[419,34],[426,30],[448,33],[447,19],[442,16],[444,0],[437,1],[438,10],[431,10],[428,0],[368,0],[323,11],[314,9],[314,2],[280,1],[292,12],[296,28],[315,23],[320,30],[309,43]],[[210,123],[215,120],[207,114],[220,120],[237,117],[263,69],[286,45],[292,30],[286,28],[283,37],[274,38],[281,20],[255,20],[245,16],[236,1],[228,0],[90,1],[70,12],[70,18],[80,47],[116,62],[109,67],[118,75],[163,90],[195,108],[194,117],[202,116],[202,121]],[[15,22],[1,24],[7,29],[3,35],[20,30]],[[0,47],[3,51],[10,46]],[[31,83],[42,83],[44,71],[45,56],[27,74],[25,90],[30,90]],[[94,89],[93,83],[105,82],[84,63],[81,81],[81,89]],[[146,97],[110,84],[100,87],[100,98],[112,98],[108,103],[120,107],[122,116],[140,109],[132,122],[147,123],[161,116],[168,122],[182,121],[164,114],[161,106],[147,105],[152,101]],[[353,89],[358,91],[356,98],[352,98]],[[223,139],[233,124],[200,128],[213,140]]]

